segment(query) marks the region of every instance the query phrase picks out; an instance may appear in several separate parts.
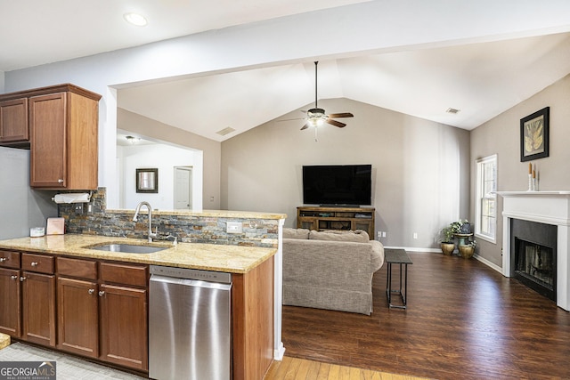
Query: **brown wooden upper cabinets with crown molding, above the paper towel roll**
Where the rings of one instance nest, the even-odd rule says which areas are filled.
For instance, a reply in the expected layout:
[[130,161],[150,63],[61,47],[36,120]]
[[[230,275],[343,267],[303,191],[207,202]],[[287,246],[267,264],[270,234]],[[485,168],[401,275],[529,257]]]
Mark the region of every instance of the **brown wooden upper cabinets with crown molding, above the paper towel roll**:
[[30,183],[95,190],[101,95],[77,85],[0,94],[0,145],[30,150]]

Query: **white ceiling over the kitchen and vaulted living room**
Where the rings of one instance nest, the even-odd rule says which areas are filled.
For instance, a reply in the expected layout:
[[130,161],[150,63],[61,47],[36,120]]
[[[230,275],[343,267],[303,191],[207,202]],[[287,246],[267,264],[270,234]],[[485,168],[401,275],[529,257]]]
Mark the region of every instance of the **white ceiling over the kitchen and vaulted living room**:
[[[4,1],[0,3],[0,14],[4,15],[0,23],[0,70],[23,69],[209,29],[357,3],[363,2]],[[539,3],[543,4],[537,1],[537,7],[541,6]],[[122,19],[125,12],[142,12],[149,25],[138,28],[126,24]],[[532,34],[521,32],[521,20],[501,22],[513,25],[511,35],[481,36],[468,44],[446,47],[407,45],[391,53],[322,60],[318,98],[349,98],[472,129],[570,73],[570,21],[567,28],[558,28],[555,34],[546,28]],[[397,33],[405,34],[406,30]],[[216,141],[276,118],[297,114],[303,117],[297,110],[312,105],[314,63],[310,58],[118,90],[119,107]],[[460,112],[450,115],[445,112],[448,108]],[[295,112],[290,114],[291,111]],[[349,120],[342,121],[350,126]],[[303,125],[302,120],[288,123],[299,128]],[[236,132],[216,134],[226,127]]]

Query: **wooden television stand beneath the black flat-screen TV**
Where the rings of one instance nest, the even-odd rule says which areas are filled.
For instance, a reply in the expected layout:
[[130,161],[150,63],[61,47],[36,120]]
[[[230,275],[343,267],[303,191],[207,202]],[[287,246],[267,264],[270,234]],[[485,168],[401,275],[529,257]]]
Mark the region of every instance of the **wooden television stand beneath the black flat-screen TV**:
[[298,206],[297,228],[308,230],[365,230],[374,239],[373,207]]

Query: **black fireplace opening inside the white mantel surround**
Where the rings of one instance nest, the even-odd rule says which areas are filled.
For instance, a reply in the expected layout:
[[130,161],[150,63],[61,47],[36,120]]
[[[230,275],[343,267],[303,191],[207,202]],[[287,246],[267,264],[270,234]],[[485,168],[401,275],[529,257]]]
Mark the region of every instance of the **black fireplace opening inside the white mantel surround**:
[[556,301],[557,226],[512,219],[511,277]]

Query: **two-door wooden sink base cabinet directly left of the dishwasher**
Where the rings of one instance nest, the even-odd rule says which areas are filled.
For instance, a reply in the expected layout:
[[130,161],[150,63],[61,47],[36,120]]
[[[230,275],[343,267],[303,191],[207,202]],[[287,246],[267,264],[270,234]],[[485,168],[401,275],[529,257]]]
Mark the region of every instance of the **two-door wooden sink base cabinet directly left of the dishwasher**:
[[58,273],[57,347],[148,370],[148,267],[58,257]]

